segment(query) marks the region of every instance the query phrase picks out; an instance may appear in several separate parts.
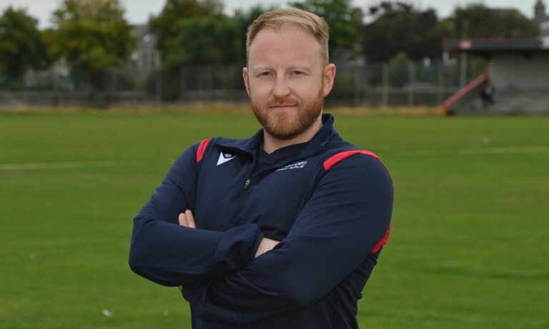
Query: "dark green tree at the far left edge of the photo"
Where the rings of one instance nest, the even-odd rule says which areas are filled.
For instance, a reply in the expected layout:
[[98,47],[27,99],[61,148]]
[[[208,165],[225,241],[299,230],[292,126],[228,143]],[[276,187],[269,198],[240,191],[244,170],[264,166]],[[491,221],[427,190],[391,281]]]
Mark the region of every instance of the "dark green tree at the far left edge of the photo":
[[37,23],[25,9],[11,6],[0,16],[0,75],[8,83],[21,79],[27,69],[47,64],[46,46]]

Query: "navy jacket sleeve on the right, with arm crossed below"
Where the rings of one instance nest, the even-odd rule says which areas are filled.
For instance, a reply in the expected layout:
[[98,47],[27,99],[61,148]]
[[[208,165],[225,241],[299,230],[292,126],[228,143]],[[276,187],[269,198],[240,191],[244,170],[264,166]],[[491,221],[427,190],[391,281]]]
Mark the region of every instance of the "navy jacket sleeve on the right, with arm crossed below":
[[273,250],[184,291],[195,315],[245,325],[308,308],[330,293],[386,238],[392,181],[376,158],[355,155],[330,168]]

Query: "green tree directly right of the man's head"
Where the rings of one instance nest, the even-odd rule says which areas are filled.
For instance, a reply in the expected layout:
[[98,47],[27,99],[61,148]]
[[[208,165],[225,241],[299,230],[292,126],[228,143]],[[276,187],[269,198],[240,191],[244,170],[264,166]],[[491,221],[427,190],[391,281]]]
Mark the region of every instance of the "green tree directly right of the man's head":
[[357,29],[362,18],[360,11],[352,8],[351,0],[305,0],[290,4],[324,18],[330,26],[330,55],[335,51],[360,52],[360,34]]

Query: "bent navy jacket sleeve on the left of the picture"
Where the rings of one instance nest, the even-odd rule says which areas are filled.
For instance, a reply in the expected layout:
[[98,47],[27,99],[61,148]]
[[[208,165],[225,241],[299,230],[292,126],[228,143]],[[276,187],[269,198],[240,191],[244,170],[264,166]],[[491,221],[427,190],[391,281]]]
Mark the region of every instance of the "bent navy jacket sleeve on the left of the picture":
[[134,218],[129,266],[162,285],[186,286],[241,268],[254,258],[263,236],[256,224],[226,232],[179,226],[179,213],[194,211],[197,149],[179,156]]

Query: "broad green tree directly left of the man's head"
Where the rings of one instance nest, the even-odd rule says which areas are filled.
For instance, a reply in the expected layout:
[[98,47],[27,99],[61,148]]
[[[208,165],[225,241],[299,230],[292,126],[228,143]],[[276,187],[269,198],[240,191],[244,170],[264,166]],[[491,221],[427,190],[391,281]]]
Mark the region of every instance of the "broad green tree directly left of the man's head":
[[[181,97],[182,91],[192,88],[189,83],[200,80],[196,76],[189,79],[195,73],[185,66],[244,63],[240,19],[229,18],[222,10],[219,0],[167,0],[162,12],[149,21],[163,66],[162,72],[149,79],[156,83],[164,81],[164,99]],[[212,81],[209,71],[202,71],[204,74],[199,78]]]

